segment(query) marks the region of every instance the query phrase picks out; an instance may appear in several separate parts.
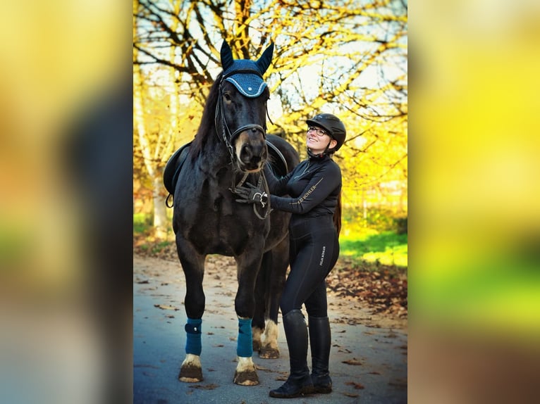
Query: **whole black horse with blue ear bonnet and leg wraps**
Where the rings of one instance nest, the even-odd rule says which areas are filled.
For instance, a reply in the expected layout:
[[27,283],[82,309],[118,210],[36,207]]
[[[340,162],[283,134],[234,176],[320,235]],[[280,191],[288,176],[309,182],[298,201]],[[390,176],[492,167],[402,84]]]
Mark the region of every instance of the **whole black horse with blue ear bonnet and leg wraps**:
[[[288,266],[290,215],[271,213],[264,203],[238,203],[233,193],[245,183],[264,189],[262,168],[267,162],[274,161],[271,167],[284,175],[299,161],[293,146],[279,137],[266,137],[269,89],[262,75],[273,50],[271,44],[258,61],[234,60],[223,42],[223,72],[210,89],[197,135],[188,148],[171,157],[164,174],[173,194],[173,230],[186,279],[186,357],[180,381],[202,380],[202,279],[208,254],[233,256],[238,267],[235,384],[259,384],[252,362],[254,348],[261,350],[262,357],[278,355],[278,299]],[[263,330],[266,338],[262,339]]]

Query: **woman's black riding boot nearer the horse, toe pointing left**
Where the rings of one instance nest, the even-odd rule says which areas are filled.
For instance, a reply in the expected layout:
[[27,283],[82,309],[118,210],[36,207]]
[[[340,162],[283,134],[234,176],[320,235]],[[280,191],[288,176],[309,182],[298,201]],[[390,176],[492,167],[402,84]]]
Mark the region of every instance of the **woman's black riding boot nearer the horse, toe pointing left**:
[[307,367],[307,326],[300,310],[291,310],[283,316],[283,328],[289,348],[290,375],[271,397],[293,398],[313,393],[312,379]]

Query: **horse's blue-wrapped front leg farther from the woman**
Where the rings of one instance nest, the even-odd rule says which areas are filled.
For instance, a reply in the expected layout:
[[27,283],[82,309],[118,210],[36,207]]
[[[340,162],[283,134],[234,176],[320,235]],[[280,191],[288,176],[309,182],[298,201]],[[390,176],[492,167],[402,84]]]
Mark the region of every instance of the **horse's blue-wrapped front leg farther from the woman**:
[[188,383],[202,381],[201,367],[201,324],[204,313],[204,291],[202,277],[204,276],[204,255],[200,255],[188,241],[176,238],[178,256],[185,274],[185,313],[188,315],[185,324],[185,359],[180,367],[178,379]]

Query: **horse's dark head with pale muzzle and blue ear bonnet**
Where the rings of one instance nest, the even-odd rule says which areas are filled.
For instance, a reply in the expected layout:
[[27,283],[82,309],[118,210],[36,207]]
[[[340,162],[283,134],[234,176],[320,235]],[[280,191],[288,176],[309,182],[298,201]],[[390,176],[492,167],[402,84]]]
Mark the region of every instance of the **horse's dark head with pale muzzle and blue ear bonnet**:
[[266,101],[269,89],[262,75],[270,65],[274,44],[258,61],[234,60],[227,42],[221,46],[223,75],[216,106],[216,130],[231,158],[243,172],[262,169],[266,148]]

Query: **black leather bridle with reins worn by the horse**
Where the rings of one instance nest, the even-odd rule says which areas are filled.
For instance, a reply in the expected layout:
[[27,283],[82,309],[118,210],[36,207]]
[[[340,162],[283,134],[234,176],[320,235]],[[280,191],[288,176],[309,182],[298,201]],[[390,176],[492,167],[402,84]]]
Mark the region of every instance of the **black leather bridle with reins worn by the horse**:
[[[229,77],[230,75],[237,75],[238,73],[250,73],[250,74],[255,74],[255,75],[258,75],[259,77],[262,78],[262,75],[257,72],[257,70],[233,70],[231,72],[228,72],[226,75],[223,75],[221,77],[221,81],[219,82],[219,94],[218,94],[218,101],[217,101],[217,104],[216,104],[216,114],[214,115],[214,125],[216,127],[216,134],[218,135],[219,137],[219,132],[218,132],[218,123],[219,123],[219,120],[221,120],[221,137],[219,137],[219,139],[223,140],[223,143],[225,144],[226,148],[227,148],[227,151],[229,153],[229,156],[231,157],[231,164],[233,165],[233,167],[235,167],[235,162],[236,162],[236,156],[235,156],[235,153],[234,153],[234,146],[233,146],[233,143],[235,141],[235,139],[240,135],[240,133],[244,132],[245,130],[258,130],[259,132],[262,133],[262,136],[264,139],[266,139],[266,123],[264,125],[264,127],[262,127],[261,125],[257,125],[257,124],[247,124],[247,125],[243,125],[243,126],[240,126],[237,130],[235,130],[234,132],[231,133],[231,130],[229,129],[228,127],[228,124],[227,124],[227,120],[225,119],[225,110],[223,108],[223,81]],[[266,106],[266,115],[268,115],[268,107]],[[271,120],[270,120],[271,122]],[[248,172],[244,172],[244,175],[242,177],[242,179],[240,179],[240,181],[238,183],[235,183],[235,175],[233,175],[233,184],[232,184],[232,187],[231,187],[231,191],[234,193],[236,187],[241,187],[245,180],[247,179],[247,176],[249,175]],[[268,182],[266,182],[266,177],[264,177],[264,171],[261,170],[260,171],[260,174],[259,174],[259,181],[258,181],[258,184],[257,184],[257,187],[261,188],[263,187],[264,188],[264,191],[266,192],[266,194],[269,194],[269,187],[268,187]],[[270,208],[270,202],[266,203],[266,205],[262,206],[262,208],[264,209],[264,213],[263,215],[260,215],[259,212],[257,211],[257,206],[255,206],[255,204],[253,204],[253,211],[255,213],[255,215],[257,215],[257,217],[259,217],[259,219],[265,219],[270,211],[271,211],[271,208]]]

